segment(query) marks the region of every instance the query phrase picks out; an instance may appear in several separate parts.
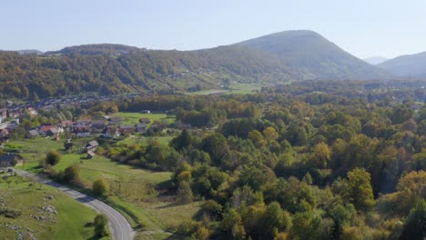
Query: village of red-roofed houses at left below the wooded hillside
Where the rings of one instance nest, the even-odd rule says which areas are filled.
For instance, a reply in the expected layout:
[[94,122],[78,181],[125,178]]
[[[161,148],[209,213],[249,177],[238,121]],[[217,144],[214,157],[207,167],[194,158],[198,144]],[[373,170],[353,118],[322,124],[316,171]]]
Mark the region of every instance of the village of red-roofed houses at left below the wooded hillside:
[[[85,99],[84,101],[94,100]],[[50,107],[54,104],[45,102],[44,105]],[[46,111],[46,108],[40,107],[39,109]],[[5,149],[5,145],[13,141],[10,135],[20,125],[20,118],[23,114],[37,115],[37,110],[33,106],[15,106],[11,102],[7,103],[7,108],[0,109],[0,167],[3,171],[6,171],[7,167],[23,165],[25,162],[19,152],[9,152]],[[54,140],[56,142],[64,141],[65,150],[73,148],[73,139],[83,138],[86,139],[87,144],[80,149],[80,153],[86,154],[86,159],[91,159],[96,155],[96,147],[99,145],[96,140],[98,139],[106,141],[113,138],[125,139],[152,135],[174,135],[176,129],[191,127],[180,121],[175,121],[173,115],[167,114],[141,110],[139,113],[117,113],[115,115],[103,115],[96,119],[63,120],[56,125],[44,124],[25,129],[25,138],[45,138],[46,141]],[[126,115],[131,117],[126,117]],[[164,119],[160,121],[159,116]]]

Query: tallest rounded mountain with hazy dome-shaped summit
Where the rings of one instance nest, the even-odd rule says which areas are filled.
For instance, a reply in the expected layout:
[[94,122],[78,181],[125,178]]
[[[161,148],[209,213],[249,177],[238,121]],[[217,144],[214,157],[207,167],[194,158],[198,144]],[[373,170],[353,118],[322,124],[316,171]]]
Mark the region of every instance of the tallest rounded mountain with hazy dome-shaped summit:
[[237,45],[279,57],[299,79],[374,79],[386,74],[350,55],[325,37],[307,30],[264,35]]

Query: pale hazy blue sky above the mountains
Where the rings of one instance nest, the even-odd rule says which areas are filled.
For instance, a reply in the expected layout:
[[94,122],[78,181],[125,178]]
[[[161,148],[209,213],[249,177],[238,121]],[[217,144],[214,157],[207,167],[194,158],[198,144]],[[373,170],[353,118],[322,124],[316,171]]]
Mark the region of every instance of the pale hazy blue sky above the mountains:
[[[410,4],[409,4],[410,3]],[[426,0],[0,0],[0,49],[198,49],[309,29],[359,57],[426,51]]]

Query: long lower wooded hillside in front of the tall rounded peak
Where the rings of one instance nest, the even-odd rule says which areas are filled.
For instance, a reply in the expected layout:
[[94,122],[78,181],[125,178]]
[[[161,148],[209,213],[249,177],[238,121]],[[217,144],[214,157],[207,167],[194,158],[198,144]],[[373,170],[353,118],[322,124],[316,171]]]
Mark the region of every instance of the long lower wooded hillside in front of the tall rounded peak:
[[245,47],[188,52],[136,48],[126,53],[105,45],[88,48],[68,48],[43,56],[0,52],[0,94],[34,99],[81,92],[161,94],[213,88],[227,79],[254,82],[290,78],[276,57]]

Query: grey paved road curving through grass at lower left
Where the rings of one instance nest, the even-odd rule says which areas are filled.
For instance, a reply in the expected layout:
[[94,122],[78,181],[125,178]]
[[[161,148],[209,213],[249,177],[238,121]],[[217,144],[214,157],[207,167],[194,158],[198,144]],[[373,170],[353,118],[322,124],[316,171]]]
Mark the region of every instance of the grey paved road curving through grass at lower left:
[[105,214],[109,219],[108,225],[109,225],[111,234],[113,236],[113,239],[115,240],[133,239],[134,232],[130,224],[127,222],[127,219],[123,215],[118,213],[116,209],[112,208],[109,205],[106,205],[104,202],[101,202],[91,196],[77,192],[76,190],[72,190],[64,185],[56,184],[55,182],[52,182],[51,180],[40,177],[38,175],[34,175],[19,169],[15,169],[15,172],[18,175],[31,177],[35,179],[35,181],[37,182],[42,182],[46,185],[51,185],[53,187],[56,187],[57,189],[65,192],[67,195],[72,196],[80,203],[94,208],[96,212]]

